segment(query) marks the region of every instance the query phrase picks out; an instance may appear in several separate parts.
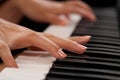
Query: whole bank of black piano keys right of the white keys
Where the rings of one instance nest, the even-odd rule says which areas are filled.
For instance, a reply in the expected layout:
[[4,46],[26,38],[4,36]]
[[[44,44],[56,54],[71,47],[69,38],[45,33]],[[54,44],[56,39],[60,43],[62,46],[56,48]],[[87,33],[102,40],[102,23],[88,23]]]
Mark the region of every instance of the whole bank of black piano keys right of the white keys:
[[83,19],[72,36],[91,35],[83,55],[65,51],[68,57],[53,64],[45,80],[120,80],[120,40],[114,8],[94,9],[97,22]]

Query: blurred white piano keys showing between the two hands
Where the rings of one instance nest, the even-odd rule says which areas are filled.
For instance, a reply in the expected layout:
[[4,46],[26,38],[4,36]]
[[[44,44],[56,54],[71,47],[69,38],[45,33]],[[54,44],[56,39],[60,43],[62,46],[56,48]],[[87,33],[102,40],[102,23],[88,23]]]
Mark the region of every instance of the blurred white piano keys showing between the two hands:
[[71,14],[70,23],[68,25],[66,26],[50,25],[44,32],[51,33],[62,38],[66,38],[72,34],[80,20],[81,20],[80,15]]

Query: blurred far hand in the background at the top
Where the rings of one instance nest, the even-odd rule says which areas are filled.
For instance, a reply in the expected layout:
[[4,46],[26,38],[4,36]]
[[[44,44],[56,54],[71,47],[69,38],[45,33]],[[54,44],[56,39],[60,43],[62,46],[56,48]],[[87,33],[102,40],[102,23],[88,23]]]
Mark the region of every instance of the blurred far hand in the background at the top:
[[69,23],[68,18],[62,19],[59,16],[71,13],[80,14],[91,21],[96,20],[92,9],[82,1],[13,0],[13,3],[26,16],[38,22],[66,25]]

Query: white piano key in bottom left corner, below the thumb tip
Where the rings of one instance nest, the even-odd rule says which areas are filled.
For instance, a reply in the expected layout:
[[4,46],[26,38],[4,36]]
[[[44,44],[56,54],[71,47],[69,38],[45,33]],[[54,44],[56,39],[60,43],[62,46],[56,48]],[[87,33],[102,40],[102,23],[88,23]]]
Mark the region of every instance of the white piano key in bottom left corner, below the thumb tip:
[[0,80],[43,80],[46,74],[37,70],[5,68],[1,76]]

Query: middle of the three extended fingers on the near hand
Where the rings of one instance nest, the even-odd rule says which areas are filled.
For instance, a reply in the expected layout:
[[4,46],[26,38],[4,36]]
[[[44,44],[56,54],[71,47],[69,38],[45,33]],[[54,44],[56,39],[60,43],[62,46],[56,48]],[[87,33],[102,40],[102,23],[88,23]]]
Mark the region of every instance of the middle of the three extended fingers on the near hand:
[[75,41],[69,39],[62,39],[50,34],[44,34],[47,38],[55,42],[58,46],[63,49],[82,54],[87,48],[83,45],[78,44]]

